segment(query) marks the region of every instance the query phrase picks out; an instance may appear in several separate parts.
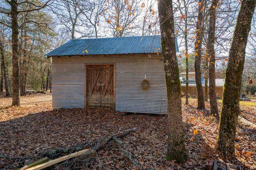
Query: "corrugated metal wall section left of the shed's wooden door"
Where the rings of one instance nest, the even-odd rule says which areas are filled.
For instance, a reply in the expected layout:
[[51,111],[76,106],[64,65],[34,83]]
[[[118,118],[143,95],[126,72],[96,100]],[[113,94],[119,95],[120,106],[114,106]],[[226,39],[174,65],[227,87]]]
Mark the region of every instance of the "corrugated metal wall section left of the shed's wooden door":
[[53,108],[84,107],[84,64],[52,58]]

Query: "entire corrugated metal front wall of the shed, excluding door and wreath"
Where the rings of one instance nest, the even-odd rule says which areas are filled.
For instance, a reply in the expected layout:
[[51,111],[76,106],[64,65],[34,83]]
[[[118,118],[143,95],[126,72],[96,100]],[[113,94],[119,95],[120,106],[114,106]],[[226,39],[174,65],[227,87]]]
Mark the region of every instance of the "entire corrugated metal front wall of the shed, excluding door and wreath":
[[[116,64],[116,111],[166,114],[164,68],[160,56],[53,57],[53,108],[84,107],[84,66],[86,63]],[[145,74],[150,82],[141,89]]]

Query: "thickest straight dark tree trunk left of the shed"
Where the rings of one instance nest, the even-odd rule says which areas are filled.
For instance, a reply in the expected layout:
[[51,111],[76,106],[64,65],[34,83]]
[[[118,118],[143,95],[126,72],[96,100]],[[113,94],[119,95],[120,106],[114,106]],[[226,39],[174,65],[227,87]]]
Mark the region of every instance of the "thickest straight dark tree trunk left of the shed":
[[20,106],[18,2],[12,0],[10,4],[12,18],[12,106]]

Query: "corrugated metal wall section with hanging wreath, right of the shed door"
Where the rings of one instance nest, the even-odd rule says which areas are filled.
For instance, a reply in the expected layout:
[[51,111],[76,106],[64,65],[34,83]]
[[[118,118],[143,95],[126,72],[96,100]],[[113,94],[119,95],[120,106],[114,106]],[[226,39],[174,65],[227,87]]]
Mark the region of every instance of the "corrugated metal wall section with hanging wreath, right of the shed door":
[[[150,83],[141,89],[145,79]],[[162,62],[116,64],[116,110],[122,112],[166,114],[166,86]]]

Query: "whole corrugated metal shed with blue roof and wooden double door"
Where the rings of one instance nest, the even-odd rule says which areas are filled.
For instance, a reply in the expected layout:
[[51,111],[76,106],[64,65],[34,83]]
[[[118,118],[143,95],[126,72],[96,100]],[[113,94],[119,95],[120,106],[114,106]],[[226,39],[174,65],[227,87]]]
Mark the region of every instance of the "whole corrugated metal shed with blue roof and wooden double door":
[[70,40],[46,56],[54,109],[167,113],[161,36]]

